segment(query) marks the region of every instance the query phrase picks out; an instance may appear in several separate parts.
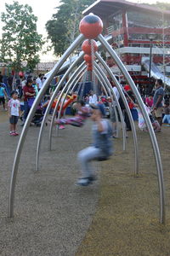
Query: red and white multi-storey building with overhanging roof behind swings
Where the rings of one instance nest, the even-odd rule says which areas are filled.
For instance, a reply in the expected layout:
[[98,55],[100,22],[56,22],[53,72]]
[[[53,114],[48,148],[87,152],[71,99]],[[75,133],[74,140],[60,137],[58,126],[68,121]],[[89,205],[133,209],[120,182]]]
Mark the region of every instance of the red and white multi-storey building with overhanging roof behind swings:
[[[112,47],[127,67],[135,84],[147,86],[151,79],[170,85],[170,11],[124,0],[98,0],[83,11],[104,22],[104,34],[112,35]],[[119,73],[111,56],[107,64]]]

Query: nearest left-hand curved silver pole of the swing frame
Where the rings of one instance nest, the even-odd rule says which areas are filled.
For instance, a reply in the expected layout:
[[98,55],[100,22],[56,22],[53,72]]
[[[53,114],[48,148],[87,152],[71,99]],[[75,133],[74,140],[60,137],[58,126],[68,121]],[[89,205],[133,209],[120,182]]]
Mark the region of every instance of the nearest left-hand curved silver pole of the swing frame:
[[20,140],[16,149],[16,153],[14,156],[14,165],[13,170],[10,178],[10,187],[9,187],[9,198],[8,198],[8,218],[12,218],[14,216],[14,189],[15,189],[15,183],[16,183],[16,177],[18,172],[18,166],[20,162],[20,154],[22,152],[23,145],[26,140],[26,134],[29,129],[29,126],[31,124],[31,119],[37,109],[37,105],[42,99],[42,96],[44,95],[45,91],[48,89],[48,86],[51,82],[51,80],[54,78],[54,75],[58,72],[59,68],[63,65],[65,60],[68,58],[68,56],[71,54],[71,52],[77,48],[77,45],[81,44],[84,36],[81,34],[77,37],[77,39],[71,44],[71,46],[65,51],[65,54],[60,58],[60,60],[57,62],[57,64],[54,66],[52,73],[49,75],[48,79],[43,84],[42,89],[39,91],[37,98],[35,99],[35,102],[33,103],[31,107],[31,111],[28,114],[28,117],[26,119],[26,123],[23,127],[23,130],[20,134]]

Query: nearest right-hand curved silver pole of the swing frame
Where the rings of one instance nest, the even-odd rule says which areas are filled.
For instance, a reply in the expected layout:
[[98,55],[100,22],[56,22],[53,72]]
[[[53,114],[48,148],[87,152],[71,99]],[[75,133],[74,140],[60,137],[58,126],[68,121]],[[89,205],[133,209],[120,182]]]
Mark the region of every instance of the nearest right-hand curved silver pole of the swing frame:
[[156,159],[156,169],[157,169],[159,193],[160,193],[160,222],[161,222],[161,224],[163,224],[163,223],[165,223],[165,191],[164,191],[165,189],[164,189],[164,181],[163,181],[163,170],[162,170],[162,165],[161,165],[161,155],[160,155],[159,147],[158,147],[158,144],[156,141],[155,132],[151,125],[148,113],[146,112],[146,110],[144,108],[144,102],[143,102],[141,96],[139,95],[139,91],[137,90],[136,85],[133,83],[133,79],[131,79],[129,73],[127,72],[126,67],[124,67],[122,61],[116,55],[115,50],[113,50],[111,48],[111,45],[105,41],[105,38],[102,35],[99,35],[98,38],[99,38],[99,41],[101,42],[101,44],[103,44],[105,49],[107,49],[108,52],[110,53],[110,55],[113,57],[114,61],[116,61],[117,66],[120,68],[123,75],[127,79],[127,83],[130,85],[131,89],[133,90],[133,94],[136,96],[136,99],[139,103],[139,108],[141,109],[141,112],[144,116],[144,121],[147,125],[148,131],[150,134],[150,141],[152,143],[152,148],[154,150],[154,155],[155,155],[155,159]]

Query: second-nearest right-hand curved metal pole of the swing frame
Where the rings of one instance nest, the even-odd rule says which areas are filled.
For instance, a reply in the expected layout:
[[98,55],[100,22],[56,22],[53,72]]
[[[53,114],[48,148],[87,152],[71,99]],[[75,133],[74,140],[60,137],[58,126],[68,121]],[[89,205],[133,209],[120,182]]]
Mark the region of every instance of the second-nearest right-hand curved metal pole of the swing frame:
[[119,84],[119,82],[117,81],[116,77],[114,76],[114,74],[111,72],[111,68],[107,66],[107,64],[105,63],[105,61],[102,59],[102,57],[99,55],[99,53],[95,53],[96,57],[98,58],[98,60],[100,61],[100,63],[103,65],[103,67],[105,67],[107,73],[109,73],[109,75],[111,76],[111,79],[113,79],[114,83],[116,84],[116,88],[120,93],[120,96],[122,97],[122,101],[125,105],[126,111],[127,111],[127,116],[128,119],[130,121],[130,125],[132,128],[132,132],[133,132],[133,144],[134,144],[134,175],[138,176],[139,175],[139,149],[138,149],[138,141],[137,141],[137,135],[136,135],[136,129],[135,129],[135,125],[133,122],[133,116],[132,113],[130,111],[130,108],[128,107],[127,104],[127,99],[122,91],[122,86]]

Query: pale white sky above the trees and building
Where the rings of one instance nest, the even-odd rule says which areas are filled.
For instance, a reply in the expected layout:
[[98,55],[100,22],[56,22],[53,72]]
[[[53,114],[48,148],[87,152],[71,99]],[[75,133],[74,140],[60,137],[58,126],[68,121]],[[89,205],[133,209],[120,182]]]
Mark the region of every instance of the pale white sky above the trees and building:
[[[56,13],[56,7],[59,6],[59,0],[16,0],[20,4],[29,4],[33,9],[33,14],[37,16],[37,32],[42,34],[43,37],[47,37],[45,24],[51,19],[52,15]],[[157,0],[159,2],[170,3],[170,0]],[[13,0],[0,0],[0,13],[5,11],[5,3],[13,3]],[[133,3],[156,3],[156,0],[130,0]],[[0,34],[2,33],[1,27],[3,26],[0,20]],[[48,53],[48,56],[41,56],[43,61],[52,61],[55,59],[52,52]]]

